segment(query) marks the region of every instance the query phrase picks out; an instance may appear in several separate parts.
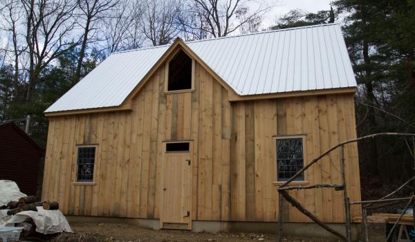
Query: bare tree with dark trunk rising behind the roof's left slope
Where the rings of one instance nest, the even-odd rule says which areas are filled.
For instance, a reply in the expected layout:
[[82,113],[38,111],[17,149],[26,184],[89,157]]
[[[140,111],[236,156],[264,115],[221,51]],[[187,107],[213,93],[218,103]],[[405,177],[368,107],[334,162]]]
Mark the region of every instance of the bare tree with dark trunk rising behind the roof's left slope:
[[96,23],[104,17],[109,17],[109,12],[114,10],[119,0],[78,0],[77,5],[80,11],[79,18],[82,21],[83,29],[82,42],[80,45],[80,56],[77,61],[75,74],[73,75],[73,84],[79,82],[82,63],[84,61],[87,44],[89,42],[89,35],[93,34],[96,29]]

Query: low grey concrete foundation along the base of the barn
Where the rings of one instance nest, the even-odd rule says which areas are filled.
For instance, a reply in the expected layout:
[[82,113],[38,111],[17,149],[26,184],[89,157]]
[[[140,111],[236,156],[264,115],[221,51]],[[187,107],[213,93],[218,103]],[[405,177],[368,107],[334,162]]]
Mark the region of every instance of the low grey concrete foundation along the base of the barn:
[[[113,218],[99,216],[66,216],[69,223],[127,223],[147,227],[152,230],[160,230],[158,219],[148,218]],[[345,235],[344,223],[329,223],[333,228]],[[327,232],[315,223],[283,223],[283,234],[288,236],[314,237],[324,239],[336,239],[333,234]],[[194,232],[257,232],[275,234],[277,223],[275,222],[238,222],[238,221],[193,221]],[[360,225],[352,224],[352,239],[358,241]]]

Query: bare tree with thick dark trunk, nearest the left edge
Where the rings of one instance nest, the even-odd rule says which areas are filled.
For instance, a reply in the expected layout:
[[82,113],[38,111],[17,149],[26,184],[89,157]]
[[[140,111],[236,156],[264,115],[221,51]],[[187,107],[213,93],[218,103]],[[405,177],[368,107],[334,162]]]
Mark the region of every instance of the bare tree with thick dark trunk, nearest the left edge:
[[75,29],[75,1],[21,0],[21,6],[29,62],[25,95],[25,100],[28,101],[44,68],[68,49],[77,46],[80,39],[69,39]]

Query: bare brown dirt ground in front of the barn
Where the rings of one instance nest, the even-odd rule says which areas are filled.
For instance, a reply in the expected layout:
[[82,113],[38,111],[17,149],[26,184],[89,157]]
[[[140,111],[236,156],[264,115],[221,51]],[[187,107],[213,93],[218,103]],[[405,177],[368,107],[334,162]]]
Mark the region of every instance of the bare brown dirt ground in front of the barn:
[[[92,233],[108,242],[269,242],[276,241],[275,234],[253,233],[196,233],[183,230],[149,230],[135,225],[109,223],[75,223],[75,232]],[[284,242],[332,242],[333,240],[285,237]],[[337,241],[337,240],[334,240]],[[334,242],[333,241],[333,242]]]

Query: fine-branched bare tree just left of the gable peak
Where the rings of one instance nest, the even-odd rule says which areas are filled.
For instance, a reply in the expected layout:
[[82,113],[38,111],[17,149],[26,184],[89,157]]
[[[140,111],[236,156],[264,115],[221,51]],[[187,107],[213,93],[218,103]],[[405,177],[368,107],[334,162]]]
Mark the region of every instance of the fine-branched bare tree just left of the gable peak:
[[138,9],[138,24],[142,33],[153,46],[168,44],[180,32],[177,17],[180,12],[178,0],[142,0],[134,8]]

